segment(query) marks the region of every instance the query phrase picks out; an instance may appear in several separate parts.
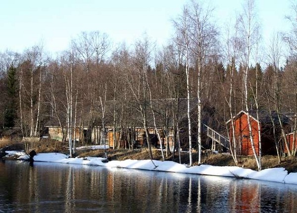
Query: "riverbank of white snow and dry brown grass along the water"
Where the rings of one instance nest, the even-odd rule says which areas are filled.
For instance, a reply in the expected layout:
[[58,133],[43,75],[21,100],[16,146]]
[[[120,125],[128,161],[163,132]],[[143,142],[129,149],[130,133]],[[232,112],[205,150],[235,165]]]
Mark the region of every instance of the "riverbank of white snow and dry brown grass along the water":
[[[12,148],[12,147],[10,147]],[[64,150],[65,151],[65,150]],[[14,158],[24,160],[28,158],[28,155],[24,152],[8,151],[5,158]],[[108,158],[105,158],[105,153]],[[99,146],[85,146],[79,147],[76,153],[77,157],[69,158],[67,154],[61,152],[49,152],[39,153],[34,156],[34,161],[39,162],[54,162],[54,163],[66,163],[66,164],[81,164],[81,165],[93,165],[93,166],[104,166],[109,168],[127,168],[127,169],[140,169],[140,170],[154,170],[154,171],[167,171],[167,172],[180,172],[180,173],[193,173],[193,174],[204,174],[204,175],[217,175],[217,176],[231,176],[237,178],[248,178],[257,179],[281,183],[297,184],[297,172],[294,172],[296,167],[295,159],[289,159],[284,162],[290,165],[291,171],[284,167],[269,167],[274,166],[274,156],[265,156],[262,159],[261,171],[256,171],[251,168],[245,167],[251,164],[252,158],[240,158],[241,167],[236,167],[231,163],[232,157],[228,154],[215,154],[208,153],[204,154],[202,165],[189,167],[187,164],[187,152],[182,153],[182,164],[176,163],[179,158],[176,156],[172,160],[170,157],[166,161],[160,161],[160,150],[154,149],[153,156],[154,160],[148,160],[148,150],[145,148],[137,149],[133,152],[128,150],[112,150],[105,149]],[[18,156],[18,157],[16,157]],[[197,153],[193,153],[194,158],[197,157]],[[196,156],[196,157],[195,157]],[[231,159],[230,159],[231,158]],[[286,160],[286,159],[285,159]],[[265,162],[265,163],[264,163]],[[292,163],[293,162],[293,163]],[[213,165],[217,164],[217,165]],[[226,165],[228,164],[228,165]]]

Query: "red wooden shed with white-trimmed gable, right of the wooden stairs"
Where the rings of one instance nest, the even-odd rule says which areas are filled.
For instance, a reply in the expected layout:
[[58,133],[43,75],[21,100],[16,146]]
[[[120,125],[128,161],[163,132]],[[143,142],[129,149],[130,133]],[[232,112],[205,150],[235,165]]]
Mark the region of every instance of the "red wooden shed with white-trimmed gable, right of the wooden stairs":
[[[251,124],[251,136],[253,139],[256,153],[259,154],[259,132],[260,132],[262,154],[263,155],[276,154],[275,139],[279,140],[281,138],[278,115],[275,112],[272,112],[272,114],[269,114],[267,111],[259,112],[260,129],[258,128],[258,120],[256,119],[256,114],[254,111],[251,111],[248,114],[245,111],[241,111],[232,118],[234,123],[234,132],[235,132],[234,136],[237,144],[237,154],[253,155],[251,142],[250,142],[247,116],[249,116],[249,121]],[[274,121],[274,125],[276,126],[275,137],[273,134],[272,119]],[[282,119],[283,126],[285,128],[290,127],[289,119],[287,117],[282,115],[281,119]],[[229,125],[229,136],[231,140],[233,138],[231,120],[227,121],[227,125]]]

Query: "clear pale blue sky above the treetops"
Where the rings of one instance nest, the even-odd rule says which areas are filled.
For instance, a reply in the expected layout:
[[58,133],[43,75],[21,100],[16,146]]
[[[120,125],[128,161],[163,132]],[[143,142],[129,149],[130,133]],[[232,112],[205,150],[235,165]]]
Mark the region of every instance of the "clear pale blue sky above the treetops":
[[[209,0],[218,23],[235,18],[244,0]],[[22,52],[43,43],[55,53],[82,31],[106,33],[114,43],[134,43],[146,32],[158,44],[173,33],[171,20],[188,0],[2,0],[0,51]],[[285,30],[290,0],[255,0],[264,38]]]

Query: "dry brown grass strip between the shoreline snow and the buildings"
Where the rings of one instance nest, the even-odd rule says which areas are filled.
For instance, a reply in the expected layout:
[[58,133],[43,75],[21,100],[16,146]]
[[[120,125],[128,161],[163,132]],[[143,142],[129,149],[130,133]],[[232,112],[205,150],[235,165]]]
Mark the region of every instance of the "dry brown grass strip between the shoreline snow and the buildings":
[[[105,158],[107,154],[109,161],[124,161],[127,159],[131,160],[149,160],[148,149],[135,149],[130,151],[129,149],[108,149],[103,150],[103,146],[79,146],[76,150],[75,157],[102,157]],[[1,150],[2,151],[21,151],[25,150],[24,143],[13,143],[6,144],[0,147],[0,158],[1,158]],[[35,150],[37,153],[48,153],[48,152],[57,152],[63,154],[69,154],[69,150],[67,149],[67,144],[62,144],[61,142],[56,142],[52,140],[41,141],[40,143],[36,143],[35,145],[31,145],[30,150]],[[159,149],[152,149],[153,160],[162,161],[161,151]],[[2,155],[5,155],[4,153]],[[178,153],[168,153],[168,157],[165,155],[165,161],[173,161],[179,163]],[[211,165],[211,166],[236,166],[232,156],[228,153],[213,153],[213,152],[203,152],[202,160],[203,165]],[[257,165],[255,159],[252,156],[238,156],[239,167],[251,170],[257,170]],[[297,172],[297,158],[281,158],[281,163],[278,163],[277,156],[262,156],[262,169],[270,169],[270,168],[285,168],[289,173]],[[181,163],[188,164],[189,153],[181,152]],[[198,153],[193,151],[193,165],[198,165]]]

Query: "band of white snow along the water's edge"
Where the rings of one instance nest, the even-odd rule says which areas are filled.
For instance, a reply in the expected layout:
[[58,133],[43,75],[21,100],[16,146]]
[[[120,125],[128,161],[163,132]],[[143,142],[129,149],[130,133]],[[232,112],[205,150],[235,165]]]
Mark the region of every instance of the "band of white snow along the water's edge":
[[[22,152],[6,151],[7,155],[19,155],[20,160],[28,158],[28,155]],[[156,161],[156,160],[125,160],[125,161],[109,161],[107,163],[105,158],[99,157],[85,157],[85,158],[69,158],[67,155],[61,153],[39,153],[34,156],[34,161],[38,162],[53,162],[64,164],[80,164],[103,166],[110,168],[127,168],[139,170],[153,170],[153,171],[168,171],[216,176],[230,176],[241,177],[248,179],[257,179],[265,181],[273,181],[280,183],[297,184],[297,172],[289,173],[284,168],[272,168],[261,171],[250,169],[243,169],[241,167],[218,167],[210,165],[200,165],[188,167],[188,165],[178,164],[172,161]],[[103,162],[102,162],[103,161]]]

